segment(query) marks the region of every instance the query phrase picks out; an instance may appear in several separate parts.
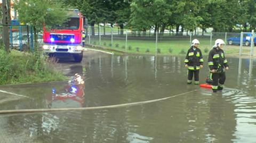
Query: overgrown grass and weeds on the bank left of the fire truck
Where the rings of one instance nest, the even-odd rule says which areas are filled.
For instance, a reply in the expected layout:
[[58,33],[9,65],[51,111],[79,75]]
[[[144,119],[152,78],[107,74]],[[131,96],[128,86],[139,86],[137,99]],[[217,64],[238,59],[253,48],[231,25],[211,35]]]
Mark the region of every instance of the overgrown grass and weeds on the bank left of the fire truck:
[[11,51],[7,54],[0,49],[0,85],[65,80],[66,77],[55,69],[56,61],[46,56]]

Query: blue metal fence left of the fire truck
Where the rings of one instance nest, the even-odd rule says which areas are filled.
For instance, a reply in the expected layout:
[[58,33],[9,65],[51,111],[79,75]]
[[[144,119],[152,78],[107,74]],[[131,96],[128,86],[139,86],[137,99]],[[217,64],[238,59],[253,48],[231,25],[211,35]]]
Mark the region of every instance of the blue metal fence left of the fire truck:
[[[3,26],[0,26],[0,44],[3,45]],[[19,51],[34,51],[34,31],[31,26],[9,26],[10,48]],[[38,34],[38,43],[43,44],[43,35]]]

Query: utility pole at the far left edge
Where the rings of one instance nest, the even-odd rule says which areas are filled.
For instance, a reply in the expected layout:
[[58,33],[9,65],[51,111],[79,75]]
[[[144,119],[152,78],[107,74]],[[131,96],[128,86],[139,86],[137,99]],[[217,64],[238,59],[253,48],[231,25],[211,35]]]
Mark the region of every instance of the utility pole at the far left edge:
[[10,16],[10,1],[2,0],[2,12],[3,12],[3,43],[7,53],[10,52],[10,39],[9,39],[9,25],[11,23]]

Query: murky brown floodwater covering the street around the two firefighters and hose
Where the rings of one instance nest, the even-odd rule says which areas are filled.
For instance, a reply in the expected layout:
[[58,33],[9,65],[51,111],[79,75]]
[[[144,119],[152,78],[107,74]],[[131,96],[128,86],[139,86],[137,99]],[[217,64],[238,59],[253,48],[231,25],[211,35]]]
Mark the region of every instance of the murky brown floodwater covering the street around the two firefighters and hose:
[[[61,62],[67,75],[84,74],[83,96],[54,98],[67,82],[1,87],[25,95],[1,110],[117,105],[90,111],[0,115],[3,142],[255,142],[256,60],[227,58],[226,88],[187,85],[183,56],[86,55]],[[207,76],[207,60],[200,81]],[[196,90],[195,90],[196,89]],[[188,92],[191,91],[191,92]],[[2,95],[2,93],[0,93]],[[14,95],[10,95],[14,96]],[[164,97],[158,102],[119,107]],[[1,142],[2,142],[1,141]]]

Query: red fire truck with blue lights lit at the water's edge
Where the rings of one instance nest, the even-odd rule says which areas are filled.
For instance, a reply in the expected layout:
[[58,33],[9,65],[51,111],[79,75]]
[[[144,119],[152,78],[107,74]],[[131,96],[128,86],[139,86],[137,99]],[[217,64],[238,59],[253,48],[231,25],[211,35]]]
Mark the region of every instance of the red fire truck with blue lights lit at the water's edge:
[[43,51],[49,56],[73,57],[75,62],[83,59],[83,33],[87,20],[77,10],[68,10],[69,18],[62,24],[55,24],[50,30],[43,28]]

